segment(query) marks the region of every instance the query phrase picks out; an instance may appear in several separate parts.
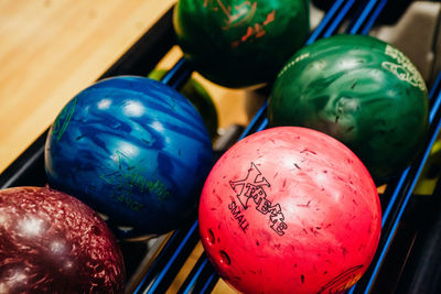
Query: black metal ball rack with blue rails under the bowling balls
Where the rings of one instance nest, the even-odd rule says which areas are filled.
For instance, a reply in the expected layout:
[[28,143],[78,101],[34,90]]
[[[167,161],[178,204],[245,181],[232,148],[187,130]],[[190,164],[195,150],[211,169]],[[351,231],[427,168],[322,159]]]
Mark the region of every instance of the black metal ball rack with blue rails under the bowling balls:
[[[334,1],[306,44],[340,32],[367,34],[387,3],[387,0]],[[171,9],[101,78],[146,76],[174,44]],[[191,74],[192,68],[182,58],[162,81],[179,88]],[[437,262],[441,258],[437,243],[441,240],[438,216],[441,215],[438,199],[441,185],[437,185],[430,197],[413,195],[441,128],[441,75],[431,85],[430,105],[430,134],[424,150],[399,178],[387,183],[381,195],[383,230],[378,250],[370,268],[349,293],[441,293],[441,282],[437,282],[441,276],[441,266]],[[217,154],[220,155],[232,142],[267,128],[266,107],[263,104],[241,133],[226,138],[225,144],[216,150]],[[43,153],[46,132],[0,175],[0,188],[45,185]],[[197,242],[195,218],[183,228],[149,242],[121,242],[128,272],[127,292],[164,293]],[[214,268],[202,253],[178,293],[209,293],[217,281]]]

